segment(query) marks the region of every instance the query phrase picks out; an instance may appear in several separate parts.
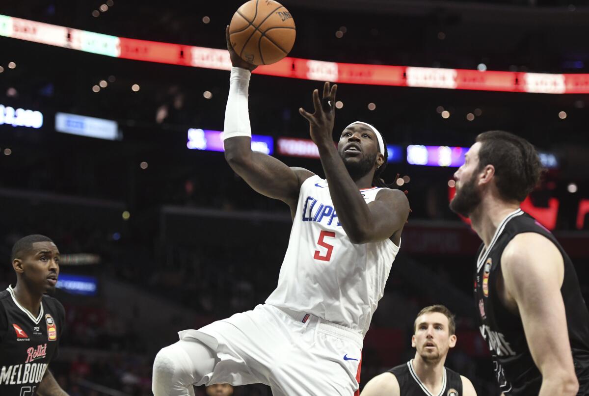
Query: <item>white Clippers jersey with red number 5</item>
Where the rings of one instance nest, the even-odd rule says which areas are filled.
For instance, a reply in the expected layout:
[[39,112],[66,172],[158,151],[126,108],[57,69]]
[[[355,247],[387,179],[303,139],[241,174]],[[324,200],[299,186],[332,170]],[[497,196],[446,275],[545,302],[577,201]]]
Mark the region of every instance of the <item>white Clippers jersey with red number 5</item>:
[[[360,190],[366,203],[379,187]],[[306,312],[366,334],[399,252],[390,239],[354,245],[333,207],[327,180],[300,187],[278,286],[266,303]]]

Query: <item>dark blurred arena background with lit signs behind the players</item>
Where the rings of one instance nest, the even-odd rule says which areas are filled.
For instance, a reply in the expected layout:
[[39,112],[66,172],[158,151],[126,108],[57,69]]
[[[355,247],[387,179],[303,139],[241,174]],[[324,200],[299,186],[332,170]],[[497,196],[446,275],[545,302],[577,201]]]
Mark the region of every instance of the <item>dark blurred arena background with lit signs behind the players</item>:
[[[153,357],[178,330],[251,309],[276,285],[287,206],[254,193],[222,153],[199,150],[223,128],[229,80],[226,51],[208,48],[224,48],[240,4],[0,3],[0,286],[15,280],[16,239],[55,240],[67,329],[51,369],[70,395],[151,395]],[[460,147],[482,131],[535,144],[549,169],[524,208],[567,249],[587,301],[587,2],[283,4],[296,59],[252,78],[254,134],[273,139],[258,149],[322,174],[312,145],[292,139],[309,138],[297,109],[321,81],[337,81],[336,133],[365,120],[398,146],[385,179],[404,177],[413,210],[365,339],[362,383],[411,358],[416,313],[443,303],[457,315],[447,366],[497,395],[472,299],[479,240],[448,209],[450,180]]]

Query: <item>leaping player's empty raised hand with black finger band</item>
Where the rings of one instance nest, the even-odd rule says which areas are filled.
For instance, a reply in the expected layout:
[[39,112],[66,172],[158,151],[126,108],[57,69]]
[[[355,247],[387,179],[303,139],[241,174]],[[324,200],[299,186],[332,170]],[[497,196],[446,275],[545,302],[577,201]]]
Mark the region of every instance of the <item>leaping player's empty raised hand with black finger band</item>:
[[335,121],[335,94],[337,92],[337,85],[329,86],[329,82],[323,85],[323,97],[319,99],[319,90],[313,91],[313,106],[315,112],[313,114],[307,113],[302,107],[299,108],[301,116],[307,118],[309,121],[309,132],[311,138],[319,146],[329,142],[333,143],[333,123]]

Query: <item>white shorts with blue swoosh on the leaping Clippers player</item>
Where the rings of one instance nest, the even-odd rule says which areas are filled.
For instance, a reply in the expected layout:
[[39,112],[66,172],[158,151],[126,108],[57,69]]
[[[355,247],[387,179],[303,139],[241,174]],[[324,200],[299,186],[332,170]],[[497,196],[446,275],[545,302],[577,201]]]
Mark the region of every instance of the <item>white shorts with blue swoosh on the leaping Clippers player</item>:
[[178,335],[203,342],[220,360],[194,385],[266,384],[275,396],[359,394],[362,335],[304,312],[258,305]]

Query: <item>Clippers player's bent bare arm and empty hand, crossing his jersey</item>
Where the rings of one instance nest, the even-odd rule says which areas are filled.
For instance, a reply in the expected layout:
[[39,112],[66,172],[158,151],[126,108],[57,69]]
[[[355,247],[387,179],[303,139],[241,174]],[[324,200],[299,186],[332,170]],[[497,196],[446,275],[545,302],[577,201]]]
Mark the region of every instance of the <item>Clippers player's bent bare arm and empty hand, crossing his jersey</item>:
[[352,243],[378,242],[401,230],[409,217],[409,201],[399,190],[383,189],[376,200],[366,204],[333,144],[337,85],[323,85],[323,97],[313,91],[313,114],[299,113],[309,121],[311,138],[319,148],[337,219]]

